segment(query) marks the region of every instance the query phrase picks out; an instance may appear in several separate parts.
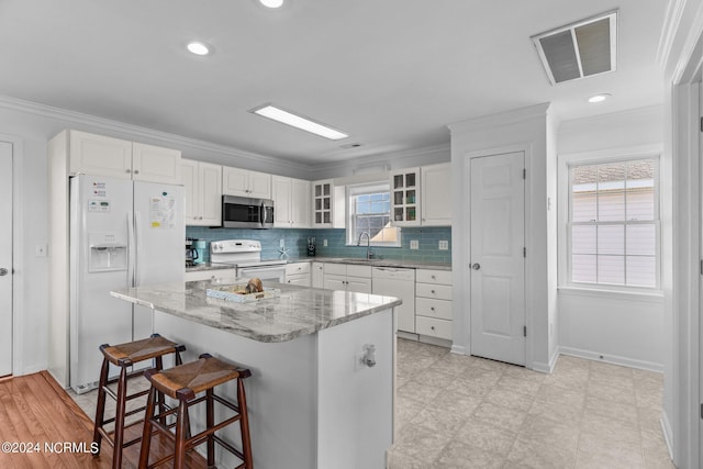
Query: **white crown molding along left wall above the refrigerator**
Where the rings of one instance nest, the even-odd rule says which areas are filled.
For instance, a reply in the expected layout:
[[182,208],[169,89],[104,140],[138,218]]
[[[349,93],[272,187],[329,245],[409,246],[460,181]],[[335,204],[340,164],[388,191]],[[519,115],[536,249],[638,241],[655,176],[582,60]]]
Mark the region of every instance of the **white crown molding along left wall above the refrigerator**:
[[256,164],[265,161],[271,165],[282,166],[298,171],[310,171],[313,168],[313,166],[311,165],[303,165],[287,159],[276,158],[272,156],[246,152],[226,145],[219,145],[197,138],[189,138],[181,135],[171,134],[168,132],[155,131],[138,125],[98,118],[81,112],[70,111],[67,109],[56,108],[47,104],[41,104],[37,102],[12,98],[9,96],[0,94],[0,108],[26,112],[48,119],[62,120],[72,124],[89,125],[91,127],[101,129],[109,132],[122,132],[130,135],[135,135],[136,137],[156,139],[179,147],[185,146],[200,150],[212,152],[227,157],[246,159]]

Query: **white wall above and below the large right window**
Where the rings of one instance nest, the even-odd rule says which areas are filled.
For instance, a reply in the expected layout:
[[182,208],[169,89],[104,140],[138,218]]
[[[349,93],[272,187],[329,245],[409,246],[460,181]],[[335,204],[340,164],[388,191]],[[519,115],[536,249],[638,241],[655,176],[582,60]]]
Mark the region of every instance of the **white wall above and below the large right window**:
[[[559,126],[558,153],[588,155],[632,148],[661,147],[663,112],[649,107],[598,118],[565,121]],[[565,175],[559,174],[560,178]],[[666,177],[666,174],[661,175]],[[662,190],[670,186],[662,181]],[[566,194],[559,193],[566,210]],[[665,198],[666,200],[667,198]],[[670,206],[661,204],[661,219]],[[566,216],[563,217],[566,220]],[[560,219],[561,221],[561,219]],[[566,230],[563,225],[559,230]],[[663,230],[663,226],[662,226]],[[565,236],[561,237],[563,242]],[[563,243],[562,243],[563,244]],[[560,268],[563,263],[560,264]],[[563,280],[563,279],[562,279]],[[667,338],[662,295],[598,293],[561,287],[558,292],[559,347],[562,353],[661,371]]]

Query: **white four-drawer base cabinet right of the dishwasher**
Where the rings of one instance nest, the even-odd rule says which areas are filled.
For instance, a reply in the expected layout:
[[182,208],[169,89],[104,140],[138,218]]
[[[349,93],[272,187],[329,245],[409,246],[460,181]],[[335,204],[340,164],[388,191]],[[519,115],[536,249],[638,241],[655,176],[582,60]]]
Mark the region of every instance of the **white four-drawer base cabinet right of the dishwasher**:
[[415,271],[415,333],[451,340],[451,271]]

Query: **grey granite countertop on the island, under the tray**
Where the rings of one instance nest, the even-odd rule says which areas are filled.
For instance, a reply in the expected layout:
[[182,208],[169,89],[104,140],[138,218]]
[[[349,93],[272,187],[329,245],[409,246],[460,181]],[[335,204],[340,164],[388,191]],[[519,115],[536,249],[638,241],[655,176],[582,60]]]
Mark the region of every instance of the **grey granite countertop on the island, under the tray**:
[[[242,282],[246,283],[246,280]],[[274,282],[267,282],[265,287],[280,289],[279,298],[236,303],[207,297],[209,287],[225,284],[211,280],[169,282],[116,290],[110,294],[266,343],[292,340],[401,304],[401,300],[392,297]]]

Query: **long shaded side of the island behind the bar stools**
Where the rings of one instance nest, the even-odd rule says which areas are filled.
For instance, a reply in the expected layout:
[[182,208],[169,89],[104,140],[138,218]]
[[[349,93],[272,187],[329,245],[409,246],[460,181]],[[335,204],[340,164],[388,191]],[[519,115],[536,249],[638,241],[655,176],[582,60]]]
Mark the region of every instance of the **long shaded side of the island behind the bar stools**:
[[[257,469],[314,468],[316,462],[316,335],[282,343],[260,343],[214,327],[155,312],[155,331],[182,343],[188,350],[183,362],[202,353],[226,359],[252,370],[245,380],[254,466]],[[216,393],[233,399],[233,383]],[[231,414],[215,406],[216,422]],[[193,433],[202,429],[204,407],[193,409]],[[239,447],[237,425],[221,434]],[[199,448],[204,450],[204,445]],[[216,445],[221,467],[234,467],[237,459]],[[327,466],[330,467],[330,466]]]

